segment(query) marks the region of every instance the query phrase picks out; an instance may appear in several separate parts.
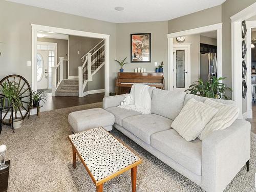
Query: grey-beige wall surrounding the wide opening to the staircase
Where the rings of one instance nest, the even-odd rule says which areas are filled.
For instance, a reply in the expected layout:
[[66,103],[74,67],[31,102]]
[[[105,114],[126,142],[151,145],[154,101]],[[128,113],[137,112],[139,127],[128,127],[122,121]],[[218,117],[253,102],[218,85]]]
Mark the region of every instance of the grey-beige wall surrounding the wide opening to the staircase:
[[[0,79],[10,74],[24,76],[31,84],[31,24],[110,35],[110,60],[116,58],[116,24],[37,7],[0,1]],[[113,65],[113,63],[111,63]],[[117,69],[110,68],[110,91],[114,91]]]

